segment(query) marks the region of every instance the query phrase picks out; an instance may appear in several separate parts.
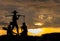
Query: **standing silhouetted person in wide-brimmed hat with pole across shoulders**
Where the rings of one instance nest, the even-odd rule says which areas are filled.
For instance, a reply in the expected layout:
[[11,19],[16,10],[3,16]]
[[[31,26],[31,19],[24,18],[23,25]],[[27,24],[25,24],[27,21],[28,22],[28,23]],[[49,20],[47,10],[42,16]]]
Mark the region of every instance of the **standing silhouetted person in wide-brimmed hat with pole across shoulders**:
[[19,19],[20,15],[16,15],[16,10],[13,12],[13,18],[12,18],[12,30],[14,29],[14,27],[16,27],[17,29],[17,34],[19,34],[19,27],[18,27],[18,24],[17,24],[17,20]]

